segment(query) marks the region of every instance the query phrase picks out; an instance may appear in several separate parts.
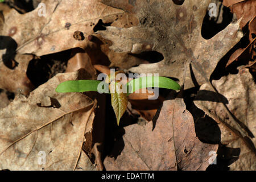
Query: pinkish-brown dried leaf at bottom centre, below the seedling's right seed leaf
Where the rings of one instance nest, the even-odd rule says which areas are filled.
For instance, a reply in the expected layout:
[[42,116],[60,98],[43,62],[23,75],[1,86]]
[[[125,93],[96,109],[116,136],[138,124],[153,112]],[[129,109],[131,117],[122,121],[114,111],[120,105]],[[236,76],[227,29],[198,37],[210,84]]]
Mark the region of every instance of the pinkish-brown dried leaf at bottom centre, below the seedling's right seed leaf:
[[154,130],[152,122],[124,127],[125,134],[115,142],[112,155],[122,143],[125,146],[116,159],[105,158],[106,170],[205,170],[209,152],[218,146],[200,142],[185,107],[182,98],[166,100],[158,110]]

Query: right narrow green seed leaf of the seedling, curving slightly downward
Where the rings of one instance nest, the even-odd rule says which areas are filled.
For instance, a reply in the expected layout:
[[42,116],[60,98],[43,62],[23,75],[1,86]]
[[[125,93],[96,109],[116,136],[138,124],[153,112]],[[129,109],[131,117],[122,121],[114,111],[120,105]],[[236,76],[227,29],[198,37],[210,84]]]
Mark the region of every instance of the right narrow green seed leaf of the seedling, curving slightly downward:
[[[150,84],[151,83],[151,84]],[[150,87],[158,87],[164,89],[180,90],[180,85],[174,80],[162,76],[147,76],[135,78],[127,82],[127,95],[134,93],[136,90]]]

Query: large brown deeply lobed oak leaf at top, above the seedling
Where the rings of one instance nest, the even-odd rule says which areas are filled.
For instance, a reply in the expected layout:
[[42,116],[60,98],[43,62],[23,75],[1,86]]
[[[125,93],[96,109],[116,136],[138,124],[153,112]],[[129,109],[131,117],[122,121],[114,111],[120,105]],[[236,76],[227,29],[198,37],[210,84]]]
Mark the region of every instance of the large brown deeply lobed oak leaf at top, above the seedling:
[[[175,77],[183,80],[184,64],[192,60],[192,68],[200,67],[195,72],[199,85],[209,78],[218,61],[241,39],[238,31],[239,21],[231,23],[212,39],[201,36],[201,26],[210,3],[207,1],[184,1],[175,5],[172,1],[147,0],[130,1],[102,0],[106,5],[133,13],[140,21],[138,26],[130,28],[106,27],[98,31],[105,39],[112,42],[110,49],[115,52],[143,53],[157,51],[164,59],[158,63],[141,64],[131,68],[137,73],[159,73],[159,76]],[[202,76],[203,74],[204,76]],[[194,86],[191,73],[187,72],[186,88]]]

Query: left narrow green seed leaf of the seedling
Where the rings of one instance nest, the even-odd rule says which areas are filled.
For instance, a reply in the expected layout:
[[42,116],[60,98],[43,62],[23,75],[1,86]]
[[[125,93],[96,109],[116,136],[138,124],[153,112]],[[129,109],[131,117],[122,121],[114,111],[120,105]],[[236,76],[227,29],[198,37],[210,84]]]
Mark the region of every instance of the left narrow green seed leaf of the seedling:
[[56,88],[56,92],[87,92],[97,91],[100,80],[68,80],[59,84]]

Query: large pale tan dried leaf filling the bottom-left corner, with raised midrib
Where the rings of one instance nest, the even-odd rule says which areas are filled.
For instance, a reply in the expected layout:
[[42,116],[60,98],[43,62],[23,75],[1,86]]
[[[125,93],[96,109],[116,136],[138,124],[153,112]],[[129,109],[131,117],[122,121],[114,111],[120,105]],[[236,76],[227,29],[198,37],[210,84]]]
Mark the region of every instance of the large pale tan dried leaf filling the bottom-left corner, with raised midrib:
[[81,93],[55,92],[60,82],[76,80],[80,73],[60,73],[0,110],[0,169],[95,169],[82,152],[95,102]]

